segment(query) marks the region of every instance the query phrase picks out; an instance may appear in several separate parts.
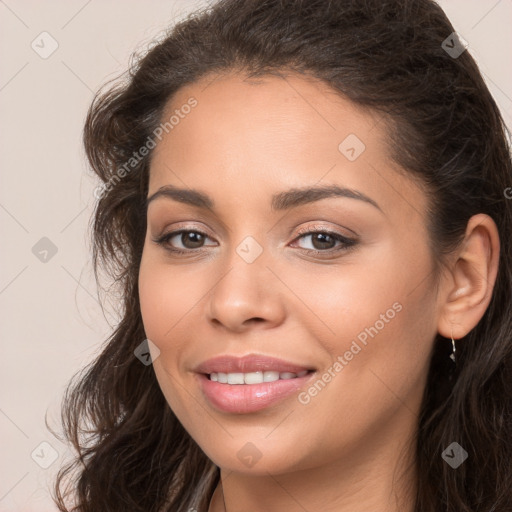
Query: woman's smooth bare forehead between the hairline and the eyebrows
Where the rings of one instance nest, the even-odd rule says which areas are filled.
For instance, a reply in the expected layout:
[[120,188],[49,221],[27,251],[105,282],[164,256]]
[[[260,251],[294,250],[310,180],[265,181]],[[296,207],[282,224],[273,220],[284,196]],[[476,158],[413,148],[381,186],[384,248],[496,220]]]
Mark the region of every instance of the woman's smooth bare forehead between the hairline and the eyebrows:
[[[195,106],[184,108],[191,99]],[[178,122],[154,150],[148,195],[167,184],[223,185],[241,205],[268,202],[284,188],[337,183],[380,198],[384,209],[418,194],[393,170],[382,119],[317,79],[210,75],[175,94],[162,121],[171,116]]]

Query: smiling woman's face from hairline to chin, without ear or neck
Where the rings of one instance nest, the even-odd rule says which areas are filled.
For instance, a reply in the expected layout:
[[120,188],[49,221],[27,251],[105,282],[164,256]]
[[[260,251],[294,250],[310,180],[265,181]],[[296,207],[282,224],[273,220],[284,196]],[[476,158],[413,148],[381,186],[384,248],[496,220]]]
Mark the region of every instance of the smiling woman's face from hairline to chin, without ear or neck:
[[[426,196],[391,161],[384,123],[299,76],[205,79],[173,114],[139,292],[175,415],[238,472],[394,450],[417,424],[437,305]],[[219,356],[234,366],[203,364]]]

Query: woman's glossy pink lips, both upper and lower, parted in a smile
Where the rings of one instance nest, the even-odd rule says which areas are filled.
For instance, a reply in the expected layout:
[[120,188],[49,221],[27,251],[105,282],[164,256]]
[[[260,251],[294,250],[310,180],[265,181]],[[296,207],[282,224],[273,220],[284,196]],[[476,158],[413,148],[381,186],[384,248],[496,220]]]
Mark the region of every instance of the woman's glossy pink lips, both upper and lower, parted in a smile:
[[[249,373],[277,371],[300,373],[310,370],[302,377],[279,379],[261,384],[222,384],[210,380],[211,373]],[[249,355],[244,357],[219,356],[204,361],[196,367],[196,377],[204,397],[216,409],[234,414],[257,412],[293,395],[311,380],[314,369],[282,359]]]

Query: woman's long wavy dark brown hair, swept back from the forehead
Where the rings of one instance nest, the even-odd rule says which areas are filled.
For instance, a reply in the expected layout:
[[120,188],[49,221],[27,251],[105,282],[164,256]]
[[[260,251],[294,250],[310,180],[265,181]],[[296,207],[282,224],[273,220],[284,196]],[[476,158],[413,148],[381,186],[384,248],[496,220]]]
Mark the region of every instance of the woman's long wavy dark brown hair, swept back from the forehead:
[[[173,414],[152,367],[134,355],[146,338],[137,280],[151,151],[131,159],[154,137],[176,91],[232,70],[312,76],[382,115],[394,160],[428,192],[437,263],[460,243],[472,215],[496,222],[493,296],[457,343],[454,372],[449,341],[435,340],[418,425],[415,511],[512,510],[509,134],[469,51],[457,46],[454,55],[443,45],[453,32],[432,0],[220,0],[172,27],[96,95],[84,130],[102,183],[93,258],[96,278],[101,269],[117,286],[121,320],[64,397],[64,432],[77,457],[55,484],[61,511],[201,512],[219,481],[219,468]],[[456,470],[441,457],[452,441],[469,454]]]

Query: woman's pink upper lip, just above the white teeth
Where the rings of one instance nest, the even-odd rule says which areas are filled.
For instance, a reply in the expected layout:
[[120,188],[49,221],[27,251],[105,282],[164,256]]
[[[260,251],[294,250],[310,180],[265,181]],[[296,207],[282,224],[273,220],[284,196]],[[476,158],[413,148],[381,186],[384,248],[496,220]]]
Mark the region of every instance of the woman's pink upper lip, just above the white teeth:
[[210,373],[248,373],[261,371],[277,371],[299,373],[304,370],[314,370],[311,366],[285,361],[283,359],[258,354],[242,357],[221,355],[207,359],[196,366],[195,371],[203,374]]

